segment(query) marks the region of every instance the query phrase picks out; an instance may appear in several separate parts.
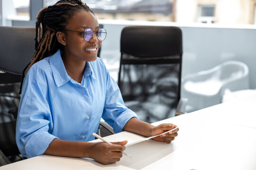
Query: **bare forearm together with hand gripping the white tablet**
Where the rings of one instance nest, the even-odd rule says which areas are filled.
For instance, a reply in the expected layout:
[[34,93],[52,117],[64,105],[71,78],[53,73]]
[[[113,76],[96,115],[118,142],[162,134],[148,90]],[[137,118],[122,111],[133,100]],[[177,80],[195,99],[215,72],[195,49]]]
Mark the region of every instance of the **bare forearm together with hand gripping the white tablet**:
[[[161,124],[155,127],[147,122],[141,121],[136,118],[132,118],[126,123],[123,130],[149,137],[149,136],[159,135],[175,127],[176,125],[173,125],[173,124]],[[169,132],[168,134],[154,137],[153,139],[155,141],[171,143],[175,139],[175,137],[178,136],[178,133],[177,133],[178,130],[179,129],[176,129],[173,132]]]

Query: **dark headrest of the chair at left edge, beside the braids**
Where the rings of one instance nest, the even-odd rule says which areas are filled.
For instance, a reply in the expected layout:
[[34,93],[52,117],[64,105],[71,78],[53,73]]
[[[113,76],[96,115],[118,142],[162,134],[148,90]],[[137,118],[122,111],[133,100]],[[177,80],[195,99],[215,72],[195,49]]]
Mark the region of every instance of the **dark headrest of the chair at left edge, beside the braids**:
[[0,70],[22,74],[35,52],[35,27],[0,26]]

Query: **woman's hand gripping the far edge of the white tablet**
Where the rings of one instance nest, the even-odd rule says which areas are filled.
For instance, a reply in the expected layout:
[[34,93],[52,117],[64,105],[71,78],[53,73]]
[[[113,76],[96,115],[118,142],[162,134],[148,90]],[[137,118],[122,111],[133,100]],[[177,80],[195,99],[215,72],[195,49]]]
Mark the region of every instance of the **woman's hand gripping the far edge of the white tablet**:
[[[152,128],[152,136],[162,134],[162,133],[167,132],[175,127],[177,127],[177,126],[174,124],[171,124],[171,123],[160,124],[160,125]],[[178,130],[179,130],[179,128],[177,128],[174,131],[171,131],[169,133],[166,133],[164,135],[156,136],[153,139],[155,141],[166,142],[166,143],[170,144],[175,139],[175,137],[178,136],[178,133],[177,133]]]

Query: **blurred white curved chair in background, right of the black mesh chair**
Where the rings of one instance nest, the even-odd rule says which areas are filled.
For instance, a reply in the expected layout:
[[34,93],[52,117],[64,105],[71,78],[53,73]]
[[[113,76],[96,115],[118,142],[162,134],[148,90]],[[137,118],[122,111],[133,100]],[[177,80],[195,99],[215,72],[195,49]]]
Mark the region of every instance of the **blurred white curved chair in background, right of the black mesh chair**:
[[188,102],[192,111],[200,110],[221,103],[225,92],[248,89],[249,69],[243,62],[225,61],[214,68],[186,75],[182,87],[184,96],[196,99]]

